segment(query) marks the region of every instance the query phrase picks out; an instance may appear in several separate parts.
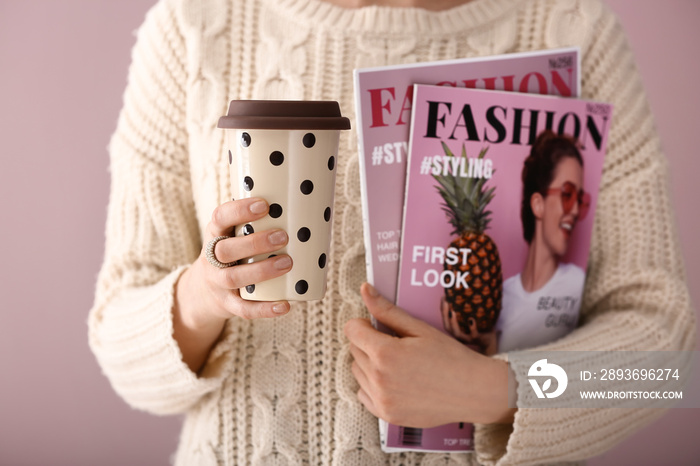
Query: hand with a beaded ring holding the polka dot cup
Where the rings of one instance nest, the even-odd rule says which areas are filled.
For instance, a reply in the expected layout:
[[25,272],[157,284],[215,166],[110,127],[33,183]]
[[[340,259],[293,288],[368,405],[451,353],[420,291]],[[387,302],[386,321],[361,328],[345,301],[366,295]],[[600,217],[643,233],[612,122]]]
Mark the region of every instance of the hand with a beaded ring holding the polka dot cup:
[[[214,210],[203,238],[204,245],[217,236],[231,236],[236,225],[263,218],[267,202],[259,198],[242,199],[221,204]],[[214,255],[219,262],[235,262],[257,254],[274,253],[289,238],[283,230],[260,231],[219,241]],[[204,364],[227,319],[276,317],[289,312],[287,301],[246,301],[238,290],[287,273],[292,259],[286,255],[252,264],[217,268],[211,265],[204,248],[176,285],[173,309],[174,337],[183,353],[183,360],[194,372]]]

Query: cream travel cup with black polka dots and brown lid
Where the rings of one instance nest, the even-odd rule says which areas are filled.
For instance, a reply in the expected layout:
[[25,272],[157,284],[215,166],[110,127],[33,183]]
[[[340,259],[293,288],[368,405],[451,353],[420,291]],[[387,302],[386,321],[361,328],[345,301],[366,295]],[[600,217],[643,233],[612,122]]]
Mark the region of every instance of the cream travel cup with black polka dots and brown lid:
[[[219,120],[226,130],[235,199],[261,197],[266,217],[235,228],[236,236],[281,228],[294,266],[287,274],[240,290],[253,301],[311,301],[326,292],[340,130],[350,121],[333,101],[234,100]],[[245,259],[267,259],[264,254]]]

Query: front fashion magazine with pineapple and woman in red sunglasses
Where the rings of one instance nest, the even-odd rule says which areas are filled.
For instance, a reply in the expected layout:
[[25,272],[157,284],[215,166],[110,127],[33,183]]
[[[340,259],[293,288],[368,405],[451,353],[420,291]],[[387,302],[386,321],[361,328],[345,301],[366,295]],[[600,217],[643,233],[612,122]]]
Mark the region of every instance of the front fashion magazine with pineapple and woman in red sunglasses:
[[[579,99],[415,86],[397,304],[485,354],[571,331],[611,115]],[[469,424],[409,434],[388,425],[386,448],[473,449]]]

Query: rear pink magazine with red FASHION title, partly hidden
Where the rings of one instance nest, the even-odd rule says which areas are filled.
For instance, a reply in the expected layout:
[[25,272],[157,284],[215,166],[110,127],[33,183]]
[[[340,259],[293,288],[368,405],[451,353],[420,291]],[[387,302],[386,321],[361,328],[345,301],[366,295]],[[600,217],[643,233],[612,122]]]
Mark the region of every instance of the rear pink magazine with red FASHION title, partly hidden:
[[367,279],[396,296],[413,84],[577,97],[579,49],[355,70]]

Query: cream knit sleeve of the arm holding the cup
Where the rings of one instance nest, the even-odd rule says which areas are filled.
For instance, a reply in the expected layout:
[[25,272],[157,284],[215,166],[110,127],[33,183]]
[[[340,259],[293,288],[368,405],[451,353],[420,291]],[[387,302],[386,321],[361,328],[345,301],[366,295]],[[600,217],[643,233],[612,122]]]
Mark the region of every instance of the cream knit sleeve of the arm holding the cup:
[[105,258],[88,318],[90,348],[115,391],[159,414],[185,411],[221,384],[211,367],[206,377],[192,373],[173,338],[174,287],[201,239],[185,129],[186,49],[170,3],[149,11],[132,52],[109,146]]

